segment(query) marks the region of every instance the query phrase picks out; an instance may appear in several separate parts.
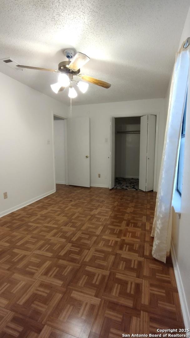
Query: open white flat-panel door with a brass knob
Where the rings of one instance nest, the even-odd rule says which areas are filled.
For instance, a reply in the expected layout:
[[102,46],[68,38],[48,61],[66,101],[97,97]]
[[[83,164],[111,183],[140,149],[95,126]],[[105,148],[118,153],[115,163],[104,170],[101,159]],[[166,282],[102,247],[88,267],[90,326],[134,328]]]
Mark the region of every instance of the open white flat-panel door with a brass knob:
[[69,185],[90,187],[89,117],[67,119]]

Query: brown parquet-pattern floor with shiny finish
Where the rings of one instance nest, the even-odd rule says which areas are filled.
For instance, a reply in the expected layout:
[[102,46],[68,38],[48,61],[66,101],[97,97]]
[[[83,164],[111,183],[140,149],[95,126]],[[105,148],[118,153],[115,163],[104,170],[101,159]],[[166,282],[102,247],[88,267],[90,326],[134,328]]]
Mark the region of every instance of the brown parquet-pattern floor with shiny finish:
[[183,328],[171,259],[151,255],[156,193],[57,186],[0,218],[0,337]]

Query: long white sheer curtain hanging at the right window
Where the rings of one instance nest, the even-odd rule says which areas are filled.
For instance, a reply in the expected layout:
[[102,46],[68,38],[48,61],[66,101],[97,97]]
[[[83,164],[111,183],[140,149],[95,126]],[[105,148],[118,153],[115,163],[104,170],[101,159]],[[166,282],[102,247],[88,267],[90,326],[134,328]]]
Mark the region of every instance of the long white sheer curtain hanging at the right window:
[[[184,45],[184,43],[183,43]],[[171,80],[168,115],[160,169],[152,237],[152,255],[166,262],[171,241],[171,203],[189,70],[189,47],[177,53]]]

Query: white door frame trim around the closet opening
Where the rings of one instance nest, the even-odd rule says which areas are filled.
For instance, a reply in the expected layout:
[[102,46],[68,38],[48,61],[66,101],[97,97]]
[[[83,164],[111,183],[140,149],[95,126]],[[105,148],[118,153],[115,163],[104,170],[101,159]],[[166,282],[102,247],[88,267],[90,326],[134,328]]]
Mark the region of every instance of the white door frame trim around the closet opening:
[[[159,127],[159,118],[160,118],[160,112],[155,113],[143,113],[143,114],[130,114],[130,115],[110,115],[110,124],[111,124],[111,118],[118,118],[118,117],[141,117],[144,115],[155,115],[156,116],[156,136],[155,136],[155,158],[154,158],[154,188],[153,191],[157,191],[156,189],[156,183],[157,183],[157,162],[158,162],[158,127]],[[111,128],[110,128],[110,154],[109,154],[109,162],[110,162],[110,174],[109,174],[109,189],[110,189],[110,182],[111,182]],[[115,163],[115,160],[114,160]]]

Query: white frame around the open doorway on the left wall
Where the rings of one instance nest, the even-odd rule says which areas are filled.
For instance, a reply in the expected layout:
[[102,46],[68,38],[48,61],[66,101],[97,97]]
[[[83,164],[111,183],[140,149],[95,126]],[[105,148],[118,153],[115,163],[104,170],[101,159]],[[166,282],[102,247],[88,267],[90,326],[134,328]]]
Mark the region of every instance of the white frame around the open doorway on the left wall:
[[67,117],[63,117],[52,112],[52,140],[53,140],[53,176],[54,176],[54,189],[56,191],[55,179],[55,137],[54,137],[54,116],[64,120],[64,144],[65,144],[65,184],[69,185],[68,179],[68,160],[67,160]]

